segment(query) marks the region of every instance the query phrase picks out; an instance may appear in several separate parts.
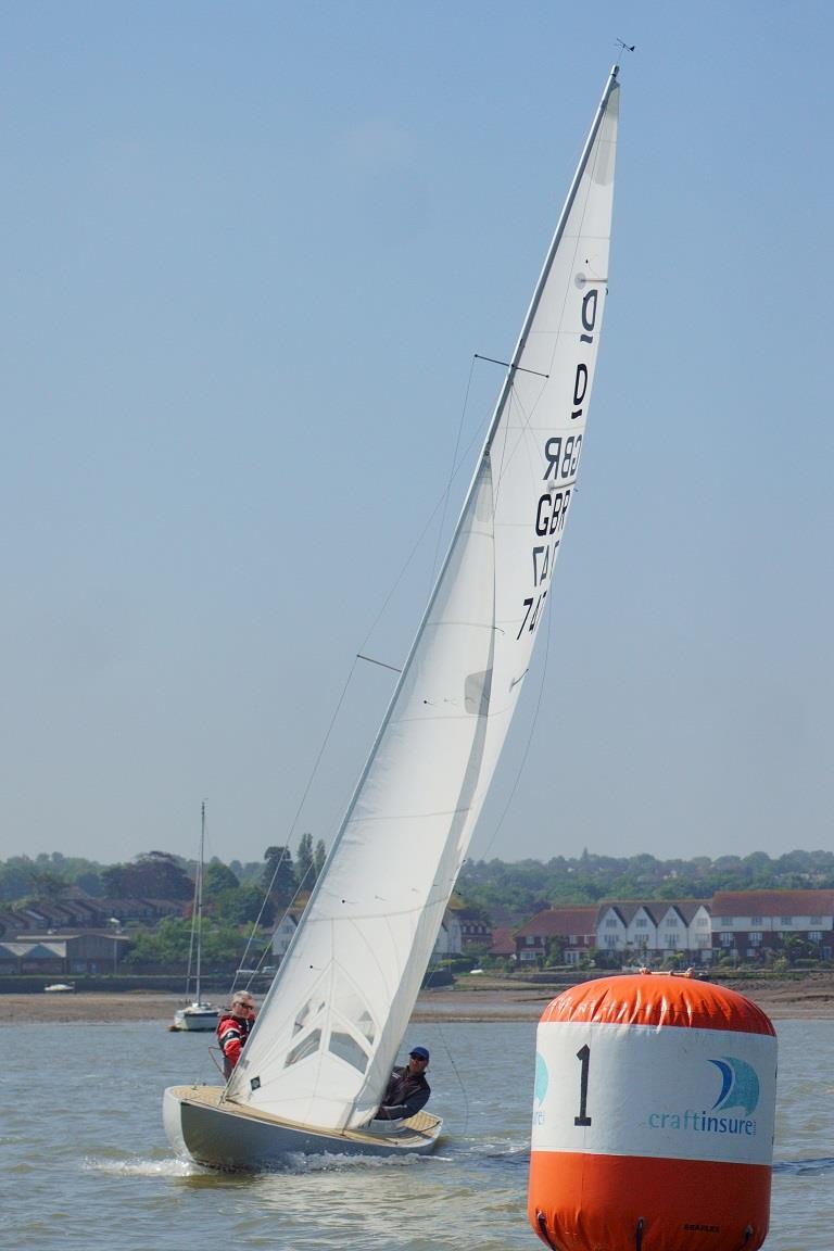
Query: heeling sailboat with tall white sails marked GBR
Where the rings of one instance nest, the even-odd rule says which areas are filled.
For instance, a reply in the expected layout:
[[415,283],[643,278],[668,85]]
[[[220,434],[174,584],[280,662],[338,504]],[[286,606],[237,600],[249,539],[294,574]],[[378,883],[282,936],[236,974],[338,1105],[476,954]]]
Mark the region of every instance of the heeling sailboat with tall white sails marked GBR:
[[[606,296],[608,78],[460,518],[330,856],[228,1085],[174,1086],[171,1145],[228,1170],[289,1152],[425,1155],[375,1121],[515,711],[573,497]],[[416,854],[413,854],[416,849]]]

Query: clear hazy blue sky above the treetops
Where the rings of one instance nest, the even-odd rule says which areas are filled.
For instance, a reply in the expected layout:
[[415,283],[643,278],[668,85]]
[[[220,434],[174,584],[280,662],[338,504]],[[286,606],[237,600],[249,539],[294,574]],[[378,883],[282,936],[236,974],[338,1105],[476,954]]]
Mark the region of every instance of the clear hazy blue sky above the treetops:
[[329,839],[618,36],[580,490],[473,854],[830,846],[830,4],[54,0],[0,16],[0,857],[193,854],[204,797],[223,859]]

